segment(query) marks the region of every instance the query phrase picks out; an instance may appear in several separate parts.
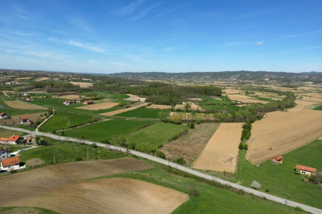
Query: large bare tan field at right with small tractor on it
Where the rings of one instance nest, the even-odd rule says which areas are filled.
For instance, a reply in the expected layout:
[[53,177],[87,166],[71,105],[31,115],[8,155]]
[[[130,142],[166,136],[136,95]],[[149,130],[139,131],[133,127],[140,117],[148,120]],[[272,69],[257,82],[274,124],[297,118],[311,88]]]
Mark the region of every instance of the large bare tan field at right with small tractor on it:
[[[270,112],[253,123],[246,158],[252,163],[269,160],[321,137],[322,111]],[[273,150],[269,150],[272,147]]]

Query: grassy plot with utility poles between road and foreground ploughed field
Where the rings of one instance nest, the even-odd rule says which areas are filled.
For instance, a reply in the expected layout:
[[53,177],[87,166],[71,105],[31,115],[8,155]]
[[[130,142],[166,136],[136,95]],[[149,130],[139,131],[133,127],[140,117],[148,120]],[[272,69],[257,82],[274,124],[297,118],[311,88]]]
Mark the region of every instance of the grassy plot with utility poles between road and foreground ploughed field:
[[38,148],[22,151],[19,153],[20,160],[24,162],[29,159],[40,158],[45,162],[45,165],[48,165],[53,163],[55,154],[55,162],[74,162],[76,158],[87,160],[87,150],[90,159],[114,159],[126,156],[124,154],[114,154],[114,152],[110,152],[102,147],[94,148],[91,145],[80,145],[76,142],[58,142],[58,140],[47,137],[45,139],[50,141],[53,145],[40,146]]

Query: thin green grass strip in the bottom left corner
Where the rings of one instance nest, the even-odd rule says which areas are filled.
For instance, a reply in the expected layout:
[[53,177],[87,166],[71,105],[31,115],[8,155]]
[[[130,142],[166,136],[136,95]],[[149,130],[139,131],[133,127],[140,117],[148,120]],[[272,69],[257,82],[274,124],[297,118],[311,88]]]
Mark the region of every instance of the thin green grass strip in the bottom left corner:
[[59,214],[52,210],[46,210],[38,207],[0,207],[1,214],[22,214],[22,213],[33,213],[33,214]]

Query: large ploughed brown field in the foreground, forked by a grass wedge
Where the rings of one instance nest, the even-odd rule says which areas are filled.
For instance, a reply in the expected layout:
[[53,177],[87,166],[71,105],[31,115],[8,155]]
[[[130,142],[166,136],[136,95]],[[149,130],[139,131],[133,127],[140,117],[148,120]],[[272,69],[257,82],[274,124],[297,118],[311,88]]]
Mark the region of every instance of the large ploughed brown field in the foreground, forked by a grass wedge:
[[[134,158],[82,161],[0,177],[10,191],[1,206],[32,206],[59,213],[171,213],[188,195],[147,182],[87,179],[152,168]],[[30,182],[37,181],[37,182]],[[17,185],[19,184],[19,185]]]

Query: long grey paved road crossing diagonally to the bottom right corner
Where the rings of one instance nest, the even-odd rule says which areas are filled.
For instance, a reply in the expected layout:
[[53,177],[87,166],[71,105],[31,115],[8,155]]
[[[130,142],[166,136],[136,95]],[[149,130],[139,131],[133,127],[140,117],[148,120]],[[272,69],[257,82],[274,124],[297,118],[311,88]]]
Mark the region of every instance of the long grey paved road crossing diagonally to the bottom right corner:
[[[20,132],[30,132],[29,130],[25,130],[25,129],[21,129],[21,128],[15,128],[15,127],[3,126],[3,128],[4,129],[9,129],[9,130],[14,130],[14,131],[20,131]],[[50,138],[53,138],[53,139],[56,139],[56,140],[80,142],[80,140],[76,139],[76,138],[60,137],[60,136],[57,136],[57,135],[54,135],[54,134],[47,134],[47,133],[33,132],[33,131],[31,132],[31,134],[33,136],[35,136],[35,135],[46,136],[46,137],[50,137]],[[280,198],[280,197],[270,195],[270,194],[267,194],[267,193],[262,193],[260,191],[257,191],[257,190],[254,190],[254,189],[251,189],[251,188],[248,188],[248,187],[244,187],[244,186],[239,185],[239,184],[231,183],[231,182],[222,180],[220,178],[214,177],[213,175],[208,175],[206,173],[199,172],[198,170],[195,170],[195,169],[192,169],[192,168],[189,168],[189,167],[185,167],[185,166],[182,166],[180,164],[173,163],[173,162],[171,162],[169,160],[158,158],[156,156],[149,155],[149,154],[146,154],[146,153],[143,153],[143,152],[130,150],[130,149],[127,150],[126,148],[122,148],[122,147],[118,147],[118,146],[114,146],[114,145],[109,145],[109,144],[104,144],[104,143],[93,142],[93,141],[82,140],[81,142],[86,143],[86,144],[96,143],[96,146],[99,146],[99,147],[104,147],[104,148],[108,148],[108,149],[112,149],[112,150],[119,150],[119,151],[122,151],[122,152],[128,152],[129,154],[137,155],[137,156],[142,157],[142,158],[147,158],[149,160],[152,160],[152,161],[155,161],[155,162],[158,162],[158,163],[170,166],[170,167],[174,167],[174,168],[179,169],[181,171],[184,171],[186,173],[196,175],[198,177],[202,177],[202,178],[205,178],[207,180],[211,180],[211,181],[214,181],[214,182],[217,182],[217,183],[220,183],[220,184],[231,186],[233,188],[240,189],[240,190],[242,190],[244,192],[252,193],[252,194],[260,196],[260,197],[265,197],[266,199],[269,199],[271,201],[276,201],[276,202],[286,204],[286,205],[292,206],[292,207],[300,207],[303,210],[306,210],[306,211],[309,211],[309,212],[312,212],[312,213],[322,214],[322,210],[320,210],[320,209],[310,207],[310,206],[307,206],[307,205],[304,205],[304,204],[300,204],[298,202],[289,201],[287,199]]]

